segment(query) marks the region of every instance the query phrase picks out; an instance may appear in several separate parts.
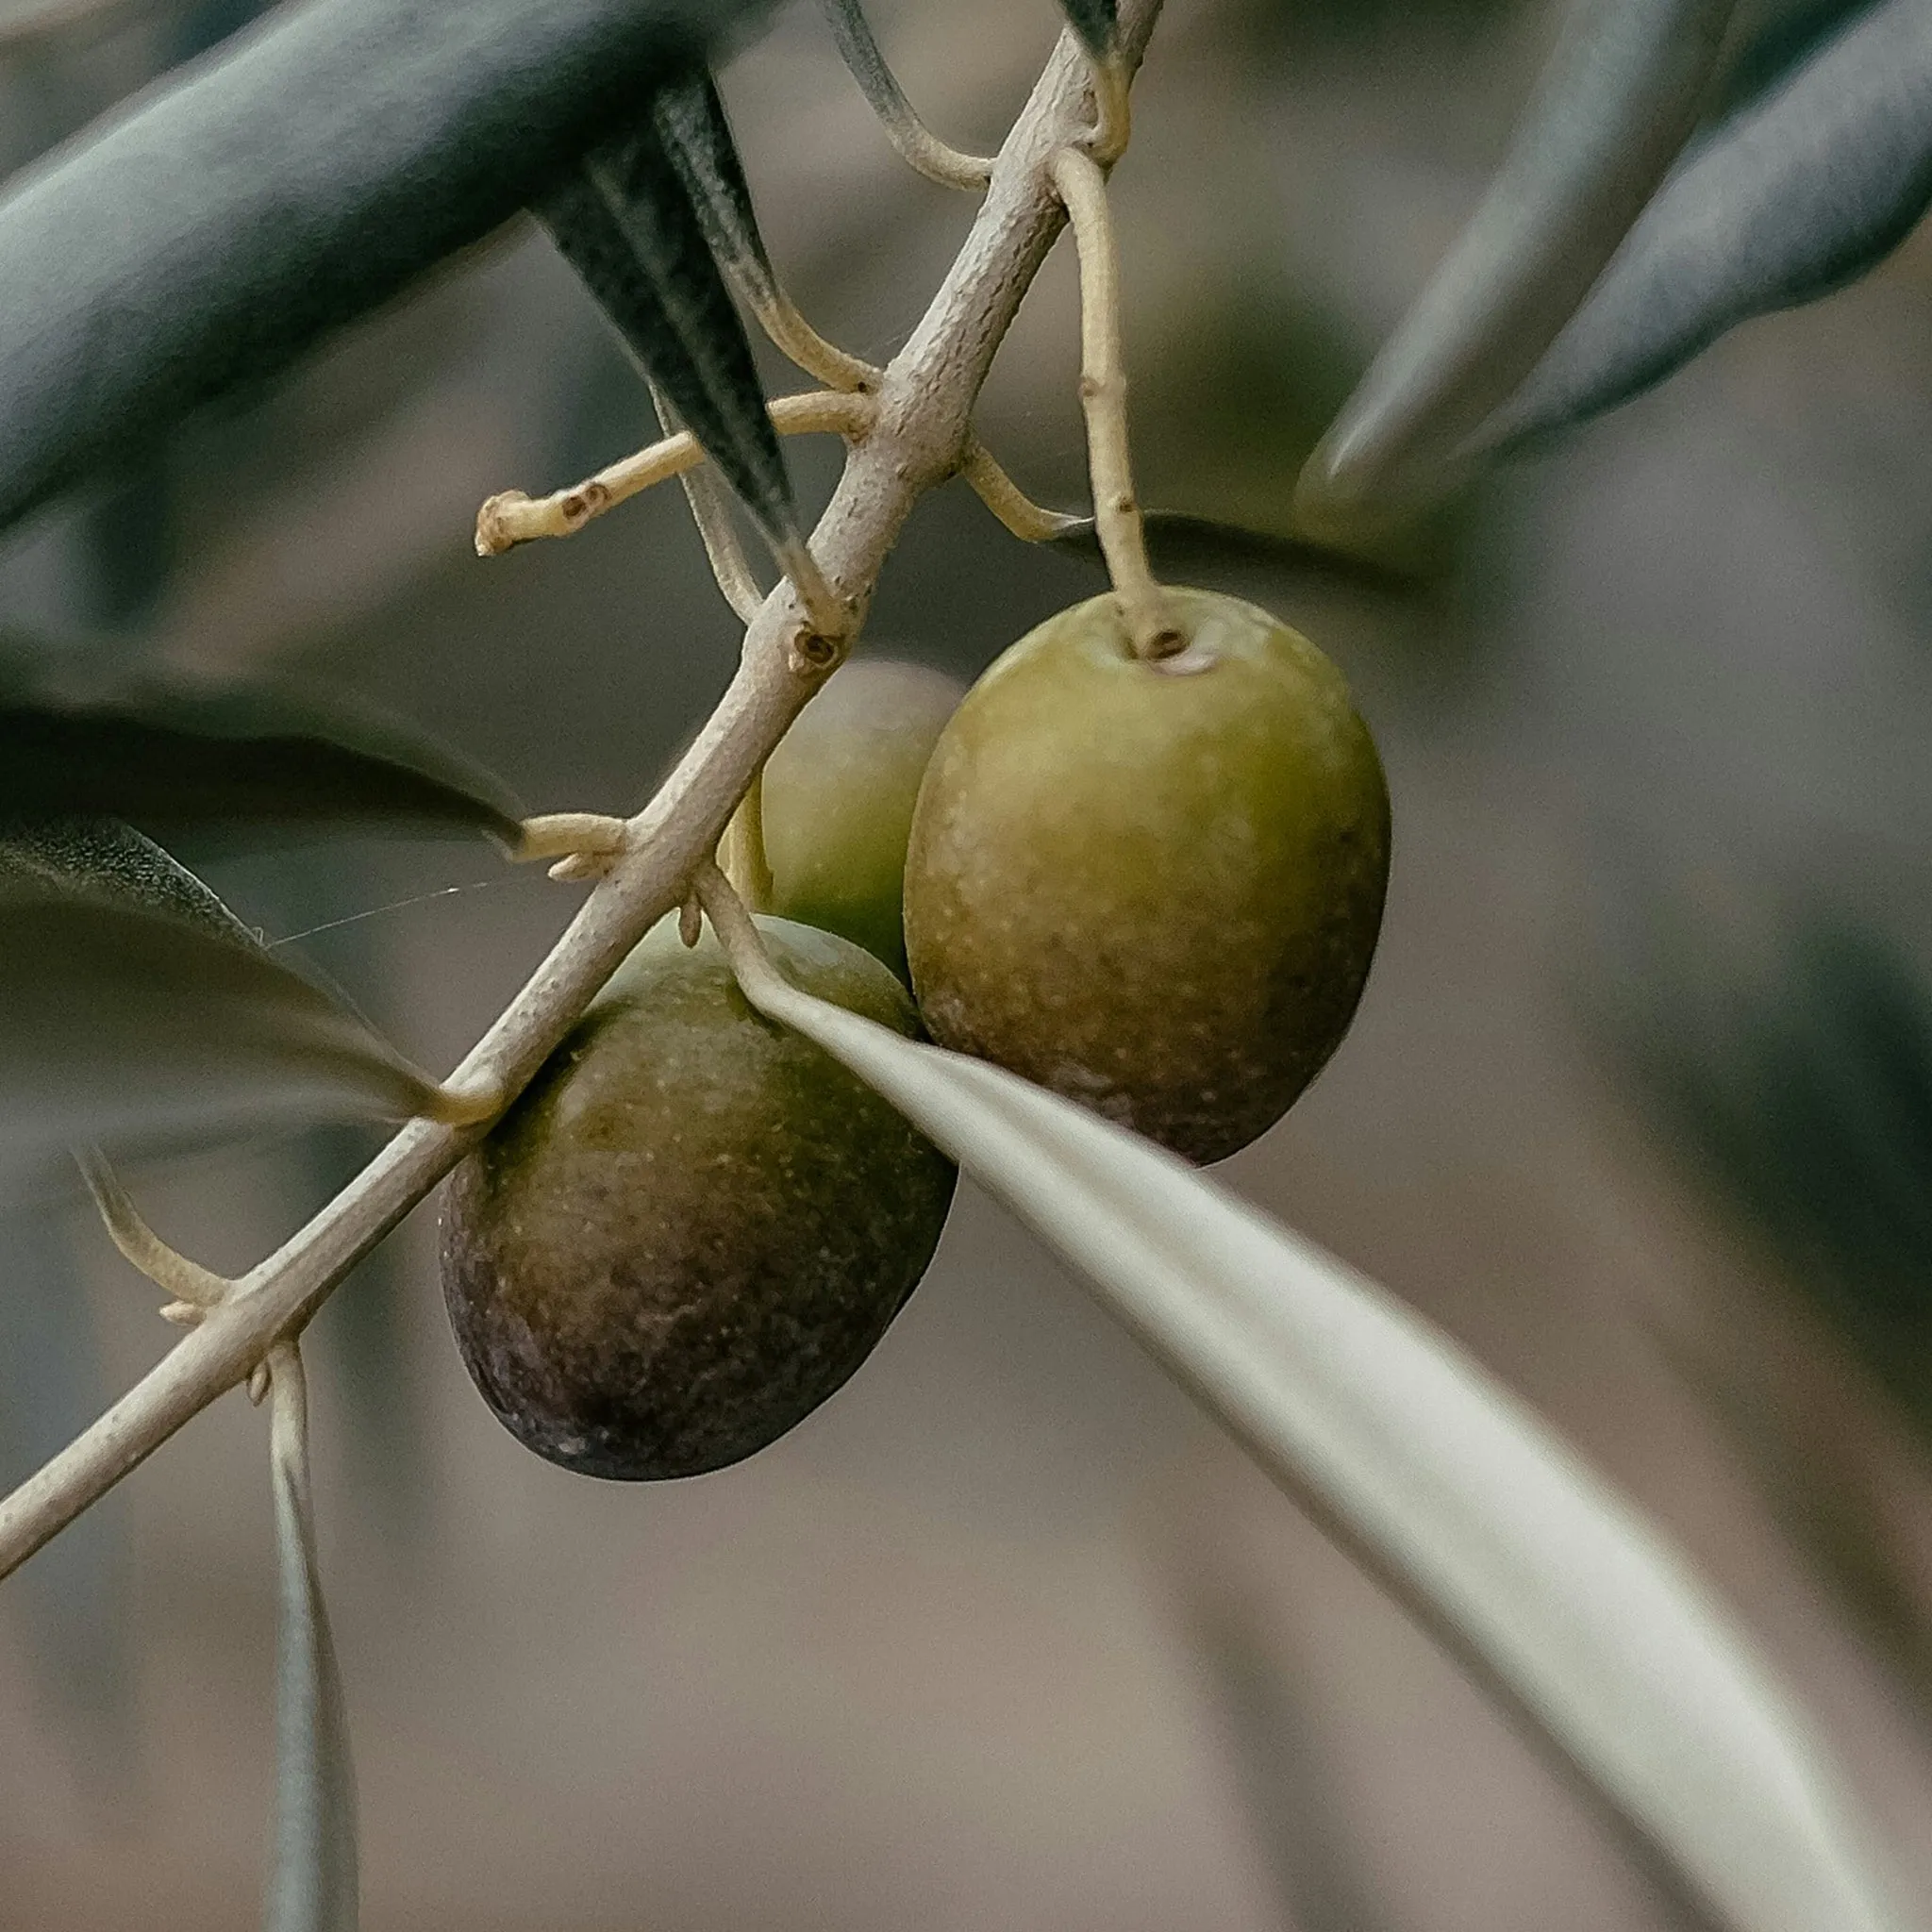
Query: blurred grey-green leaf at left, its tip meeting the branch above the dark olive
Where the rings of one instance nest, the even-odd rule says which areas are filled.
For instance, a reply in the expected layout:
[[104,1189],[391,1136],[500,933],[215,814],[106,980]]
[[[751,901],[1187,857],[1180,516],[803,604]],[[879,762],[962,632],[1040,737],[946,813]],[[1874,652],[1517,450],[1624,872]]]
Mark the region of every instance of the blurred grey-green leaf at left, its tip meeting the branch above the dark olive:
[[79,1142],[450,1113],[427,1074],[251,939],[104,891],[0,885],[0,1175]]

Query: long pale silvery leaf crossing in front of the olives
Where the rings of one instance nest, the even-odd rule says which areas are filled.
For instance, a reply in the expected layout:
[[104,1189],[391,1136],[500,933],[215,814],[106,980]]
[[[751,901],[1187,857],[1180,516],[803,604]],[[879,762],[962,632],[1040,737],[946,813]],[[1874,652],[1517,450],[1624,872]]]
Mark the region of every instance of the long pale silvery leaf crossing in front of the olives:
[[[744,968],[742,968],[744,970]],[[1804,1716],[1683,1557],[1449,1337],[997,1066],[744,970],[1503,1687],[1733,1932],[1901,1932]]]

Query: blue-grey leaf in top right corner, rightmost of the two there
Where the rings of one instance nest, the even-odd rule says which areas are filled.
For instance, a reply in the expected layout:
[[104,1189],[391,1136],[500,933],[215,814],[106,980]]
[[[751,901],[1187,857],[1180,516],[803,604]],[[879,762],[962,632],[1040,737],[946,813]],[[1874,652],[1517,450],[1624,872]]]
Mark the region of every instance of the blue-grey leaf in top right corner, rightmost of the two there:
[[1737,323],[1841,288],[1928,203],[1932,6],[1884,0],[1685,156],[1480,444],[1598,415]]

